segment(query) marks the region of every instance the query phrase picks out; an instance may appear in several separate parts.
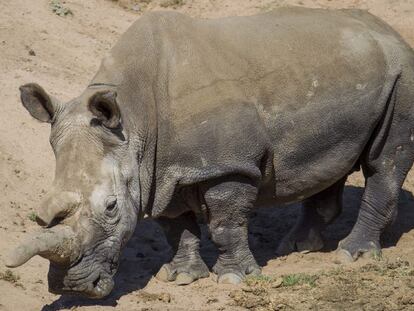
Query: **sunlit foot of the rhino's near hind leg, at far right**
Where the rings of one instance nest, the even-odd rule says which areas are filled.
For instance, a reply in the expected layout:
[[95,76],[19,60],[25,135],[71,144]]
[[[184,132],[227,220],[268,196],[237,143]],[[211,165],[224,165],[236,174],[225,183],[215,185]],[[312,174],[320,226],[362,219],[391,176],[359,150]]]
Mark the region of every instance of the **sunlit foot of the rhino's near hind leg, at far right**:
[[366,236],[350,234],[338,244],[338,259],[342,262],[352,262],[361,256],[381,256],[379,239],[367,239]]

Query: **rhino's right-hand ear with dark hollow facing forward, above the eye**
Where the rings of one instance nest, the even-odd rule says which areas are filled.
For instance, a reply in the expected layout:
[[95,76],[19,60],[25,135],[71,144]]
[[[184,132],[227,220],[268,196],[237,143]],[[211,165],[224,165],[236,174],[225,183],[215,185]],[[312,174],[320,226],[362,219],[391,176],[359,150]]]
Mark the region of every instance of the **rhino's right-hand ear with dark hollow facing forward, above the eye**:
[[116,101],[116,92],[100,91],[95,93],[89,99],[88,107],[105,127],[116,129],[121,125],[121,112]]

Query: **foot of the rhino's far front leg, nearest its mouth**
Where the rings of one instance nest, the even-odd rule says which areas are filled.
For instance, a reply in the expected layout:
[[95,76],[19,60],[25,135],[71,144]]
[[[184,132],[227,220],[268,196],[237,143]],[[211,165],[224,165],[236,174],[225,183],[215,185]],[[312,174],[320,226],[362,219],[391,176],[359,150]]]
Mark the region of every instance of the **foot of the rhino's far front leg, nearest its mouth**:
[[164,264],[156,277],[163,282],[173,282],[177,285],[188,285],[210,275],[204,262],[192,265]]

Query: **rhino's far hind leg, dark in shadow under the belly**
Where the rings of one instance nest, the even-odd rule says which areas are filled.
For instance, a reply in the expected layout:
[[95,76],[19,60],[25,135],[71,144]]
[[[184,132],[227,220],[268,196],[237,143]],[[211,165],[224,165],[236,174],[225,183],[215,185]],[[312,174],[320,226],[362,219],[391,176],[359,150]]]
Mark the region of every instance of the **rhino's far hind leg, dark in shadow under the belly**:
[[278,255],[318,251],[323,248],[321,231],[342,211],[345,181],[346,178],[343,178],[303,202],[298,221],[279,244]]

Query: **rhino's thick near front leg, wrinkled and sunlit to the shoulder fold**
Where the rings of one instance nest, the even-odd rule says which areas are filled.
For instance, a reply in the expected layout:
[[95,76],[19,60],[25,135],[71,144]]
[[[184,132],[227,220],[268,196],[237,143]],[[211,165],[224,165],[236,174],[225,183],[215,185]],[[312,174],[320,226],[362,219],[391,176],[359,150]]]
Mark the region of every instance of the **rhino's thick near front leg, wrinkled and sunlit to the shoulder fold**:
[[219,283],[240,283],[247,274],[260,274],[248,244],[248,214],[257,188],[245,179],[208,185],[204,200],[208,227],[219,250],[213,267]]

